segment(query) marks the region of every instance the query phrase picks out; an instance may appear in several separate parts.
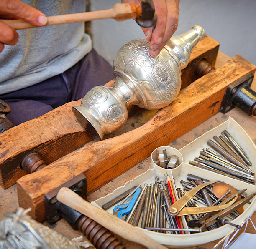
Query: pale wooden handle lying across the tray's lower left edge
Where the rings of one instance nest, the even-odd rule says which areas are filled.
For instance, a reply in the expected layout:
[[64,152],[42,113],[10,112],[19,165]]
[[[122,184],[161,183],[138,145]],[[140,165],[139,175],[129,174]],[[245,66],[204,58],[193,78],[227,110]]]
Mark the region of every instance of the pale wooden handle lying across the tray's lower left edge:
[[167,249],[165,246],[144,234],[141,229],[109,214],[107,211],[91,205],[88,201],[85,201],[82,197],[67,187],[63,187],[59,190],[57,200],[84,214],[90,219],[95,220],[106,229],[109,229],[124,239],[142,244],[149,249]]

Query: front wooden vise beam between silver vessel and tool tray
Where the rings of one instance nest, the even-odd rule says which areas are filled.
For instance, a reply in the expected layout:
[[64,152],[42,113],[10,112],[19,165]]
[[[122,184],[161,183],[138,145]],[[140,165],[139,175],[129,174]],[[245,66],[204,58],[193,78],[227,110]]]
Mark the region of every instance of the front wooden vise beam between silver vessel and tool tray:
[[20,206],[31,207],[38,221],[45,219],[44,195],[78,174],[87,177],[91,193],[116,178],[151,152],[218,113],[226,88],[256,67],[236,55],[221,68],[184,88],[171,105],[145,125],[120,136],[91,143],[17,181]]

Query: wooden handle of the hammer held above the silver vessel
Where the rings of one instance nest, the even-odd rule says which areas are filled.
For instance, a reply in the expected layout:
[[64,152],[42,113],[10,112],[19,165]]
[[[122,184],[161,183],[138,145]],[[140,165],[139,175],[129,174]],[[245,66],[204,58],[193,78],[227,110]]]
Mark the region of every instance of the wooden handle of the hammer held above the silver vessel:
[[[136,18],[141,15],[141,6],[127,3],[117,3],[108,10],[89,11],[84,13],[75,13],[68,15],[55,15],[47,17],[48,22],[45,26],[58,25],[65,23],[87,22],[91,20],[114,18],[117,21],[124,21]],[[15,30],[25,28],[36,28],[38,26],[27,23],[26,21],[0,19],[1,22],[8,24]]]

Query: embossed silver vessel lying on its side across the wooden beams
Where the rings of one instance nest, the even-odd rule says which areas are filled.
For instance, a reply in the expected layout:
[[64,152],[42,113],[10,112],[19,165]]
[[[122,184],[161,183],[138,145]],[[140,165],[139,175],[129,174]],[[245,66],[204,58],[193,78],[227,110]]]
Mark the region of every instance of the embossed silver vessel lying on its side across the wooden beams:
[[128,118],[127,106],[156,110],[168,106],[179,94],[181,70],[189,63],[195,45],[205,37],[200,26],[175,35],[159,55],[149,54],[148,42],[132,40],[114,58],[115,83],[95,86],[72,107],[84,128],[97,140],[120,128]]

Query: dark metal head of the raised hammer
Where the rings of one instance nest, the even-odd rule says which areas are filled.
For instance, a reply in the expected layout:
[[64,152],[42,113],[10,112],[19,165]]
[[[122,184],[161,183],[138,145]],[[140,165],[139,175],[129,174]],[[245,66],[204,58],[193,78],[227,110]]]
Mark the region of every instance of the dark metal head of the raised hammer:
[[157,15],[152,0],[141,0],[141,15],[136,22],[143,28],[149,28],[156,24]]

